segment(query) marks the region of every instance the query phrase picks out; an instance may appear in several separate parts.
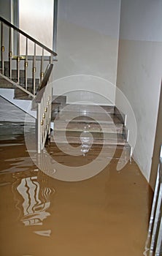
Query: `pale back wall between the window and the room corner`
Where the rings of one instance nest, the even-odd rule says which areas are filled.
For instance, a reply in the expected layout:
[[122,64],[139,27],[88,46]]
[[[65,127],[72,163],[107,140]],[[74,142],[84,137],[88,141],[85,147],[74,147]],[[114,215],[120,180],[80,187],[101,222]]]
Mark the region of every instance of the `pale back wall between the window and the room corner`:
[[[54,93],[104,91],[104,97],[110,99],[108,104],[114,104],[115,87],[111,84],[116,85],[120,0],[59,0],[58,4],[58,63],[54,80],[63,78],[63,83],[53,84]],[[71,75],[72,79],[66,79]],[[101,83],[101,78],[107,83]],[[96,101],[96,94],[90,100]],[[74,93],[72,97],[68,94],[69,102],[77,100],[82,100],[79,93],[75,97]]]

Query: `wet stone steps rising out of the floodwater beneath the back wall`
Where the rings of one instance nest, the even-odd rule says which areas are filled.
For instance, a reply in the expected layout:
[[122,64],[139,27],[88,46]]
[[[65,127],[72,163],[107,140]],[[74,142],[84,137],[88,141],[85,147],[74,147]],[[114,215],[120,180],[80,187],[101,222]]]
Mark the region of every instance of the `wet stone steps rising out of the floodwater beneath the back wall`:
[[[117,148],[118,157],[122,151],[130,157],[128,131],[125,116],[115,106],[86,104],[66,104],[66,97],[54,98],[50,133],[50,143],[56,145],[68,143],[82,146],[86,154],[91,146]],[[117,156],[116,156],[117,157]]]

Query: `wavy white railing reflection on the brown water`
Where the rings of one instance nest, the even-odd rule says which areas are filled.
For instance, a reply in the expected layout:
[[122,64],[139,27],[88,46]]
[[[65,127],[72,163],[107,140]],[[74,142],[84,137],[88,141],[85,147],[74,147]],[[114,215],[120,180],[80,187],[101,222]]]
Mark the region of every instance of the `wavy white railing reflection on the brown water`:
[[[18,177],[13,174],[16,181],[12,184],[12,192],[17,200],[17,208],[20,211],[20,221],[25,226],[43,225],[44,219],[50,216],[50,196],[55,189],[48,187],[47,176],[41,171],[35,170],[33,176]],[[41,230],[35,233],[41,236],[49,236],[51,230]]]

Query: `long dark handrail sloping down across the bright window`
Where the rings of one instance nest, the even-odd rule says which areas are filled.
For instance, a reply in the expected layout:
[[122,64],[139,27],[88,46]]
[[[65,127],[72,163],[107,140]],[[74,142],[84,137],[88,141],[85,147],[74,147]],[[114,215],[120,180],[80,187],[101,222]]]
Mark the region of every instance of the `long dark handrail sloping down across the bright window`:
[[10,23],[9,21],[5,20],[4,18],[0,17],[1,22],[5,23],[7,26],[11,27],[12,29],[15,29],[16,31],[18,31],[20,34],[23,34],[24,37],[27,37],[28,39],[30,39],[32,42],[36,43],[36,45],[39,45],[40,47],[44,48],[45,50],[47,50],[49,53],[53,54],[53,56],[57,56],[57,53],[55,53],[53,50],[50,50],[50,48],[47,48],[47,46],[43,45],[41,42],[37,41],[36,39],[34,39],[33,37],[29,36],[28,34],[26,34],[26,32],[18,29],[16,26],[14,26],[12,23]]

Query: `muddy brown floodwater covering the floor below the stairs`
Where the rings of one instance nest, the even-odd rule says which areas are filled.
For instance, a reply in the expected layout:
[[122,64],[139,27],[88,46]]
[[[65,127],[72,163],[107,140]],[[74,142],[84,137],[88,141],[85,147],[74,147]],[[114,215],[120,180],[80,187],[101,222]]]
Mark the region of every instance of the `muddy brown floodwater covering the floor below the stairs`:
[[[99,154],[47,150],[66,166],[86,165]],[[23,124],[1,123],[1,256],[141,256],[153,192],[136,163],[118,159],[84,181],[59,181],[32,162]]]

